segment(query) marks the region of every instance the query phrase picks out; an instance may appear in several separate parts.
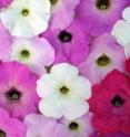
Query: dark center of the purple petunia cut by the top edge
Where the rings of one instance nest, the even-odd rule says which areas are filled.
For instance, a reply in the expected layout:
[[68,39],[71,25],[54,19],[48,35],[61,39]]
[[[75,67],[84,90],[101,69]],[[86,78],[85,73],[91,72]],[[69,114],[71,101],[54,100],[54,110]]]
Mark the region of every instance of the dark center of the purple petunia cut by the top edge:
[[107,10],[110,7],[110,0],[97,0],[97,8],[100,10]]

